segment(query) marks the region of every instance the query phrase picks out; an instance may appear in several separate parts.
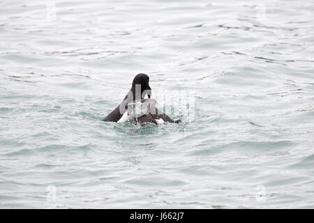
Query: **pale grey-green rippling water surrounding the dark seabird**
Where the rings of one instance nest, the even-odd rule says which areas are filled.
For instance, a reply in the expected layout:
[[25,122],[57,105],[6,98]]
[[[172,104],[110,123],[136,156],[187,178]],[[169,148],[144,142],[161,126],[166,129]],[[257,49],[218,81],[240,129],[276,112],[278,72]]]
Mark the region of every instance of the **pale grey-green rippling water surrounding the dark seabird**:
[[[314,208],[313,17],[309,0],[0,1],[0,207]],[[195,116],[102,122],[139,72],[153,98],[193,91]]]

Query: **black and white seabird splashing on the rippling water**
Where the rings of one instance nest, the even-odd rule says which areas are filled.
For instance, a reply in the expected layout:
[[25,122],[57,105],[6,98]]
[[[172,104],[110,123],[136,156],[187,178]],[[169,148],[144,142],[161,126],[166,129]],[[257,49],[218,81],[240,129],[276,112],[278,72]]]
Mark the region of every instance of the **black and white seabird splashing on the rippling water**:
[[[145,95],[149,99],[144,99]],[[145,74],[138,74],[134,77],[132,87],[124,100],[103,121],[123,123],[131,118],[133,123],[155,123],[164,122],[178,123],[160,112],[156,107],[156,100],[151,99],[151,87],[149,77]]]

